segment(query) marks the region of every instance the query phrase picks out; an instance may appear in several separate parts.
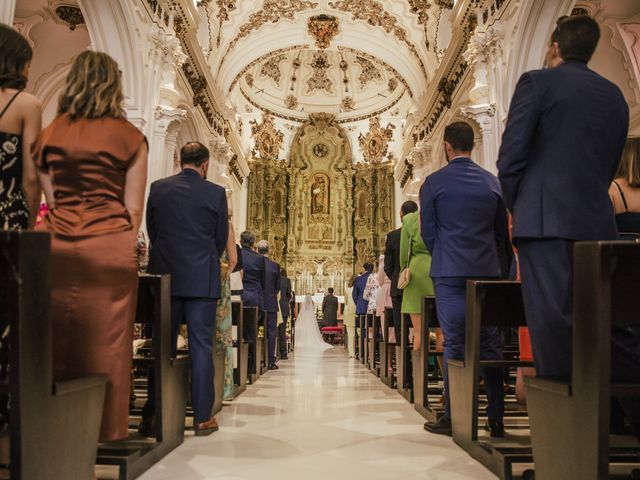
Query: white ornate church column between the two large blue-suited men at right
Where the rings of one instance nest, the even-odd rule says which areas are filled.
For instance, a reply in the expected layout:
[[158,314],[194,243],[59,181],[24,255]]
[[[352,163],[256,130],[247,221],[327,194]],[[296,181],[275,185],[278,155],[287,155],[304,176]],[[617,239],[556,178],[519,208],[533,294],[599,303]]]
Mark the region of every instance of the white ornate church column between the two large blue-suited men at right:
[[475,85],[469,92],[471,104],[462,107],[460,113],[479,125],[482,136],[482,158],[479,163],[492,173],[496,172],[502,133],[503,115],[496,110],[496,103],[501,100],[499,86],[502,84],[503,39],[502,23],[496,20],[487,26],[483,23],[482,14],[478,14],[478,27],[464,53],[466,61],[473,68]]

